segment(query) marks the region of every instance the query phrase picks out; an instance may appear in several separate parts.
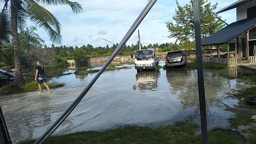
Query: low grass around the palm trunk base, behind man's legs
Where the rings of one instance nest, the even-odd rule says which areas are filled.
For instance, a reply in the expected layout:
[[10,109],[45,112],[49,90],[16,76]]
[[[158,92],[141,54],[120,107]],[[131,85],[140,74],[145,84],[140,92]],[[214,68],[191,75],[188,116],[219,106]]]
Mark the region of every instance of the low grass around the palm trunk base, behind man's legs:
[[[56,87],[62,87],[64,84],[48,84],[50,89],[56,88]],[[42,84],[42,89],[46,89],[46,87]],[[36,81],[26,82],[25,85],[12,83],[10,85],[6,85],[4,87],[0,88],[0,94],[20,94],[25,92],[33,92],[38,91],[38,84]]]

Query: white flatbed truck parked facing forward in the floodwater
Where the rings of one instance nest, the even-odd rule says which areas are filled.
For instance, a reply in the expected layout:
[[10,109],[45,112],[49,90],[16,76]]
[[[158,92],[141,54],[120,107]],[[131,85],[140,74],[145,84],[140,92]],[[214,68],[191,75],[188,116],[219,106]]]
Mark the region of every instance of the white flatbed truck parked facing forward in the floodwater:
[[[133,55],[131,55],[133,58]],[[149,70],[155,69],[159,64],[160,57],[156,57],[156,52],[154,49],[144,49],[137,50],[135,54],[135,69]]]

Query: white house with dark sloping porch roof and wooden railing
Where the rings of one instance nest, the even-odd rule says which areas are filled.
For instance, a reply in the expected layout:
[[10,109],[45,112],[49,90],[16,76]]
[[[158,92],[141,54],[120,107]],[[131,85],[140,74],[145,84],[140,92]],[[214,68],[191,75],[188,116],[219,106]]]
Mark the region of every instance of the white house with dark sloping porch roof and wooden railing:
[[[217,46],[218,54],[204,57],[205,62],[236,65],[244,59],[247,63],[256,63],[256,0],[239,0],[224,9],[216,12],[236,9],[236,22],[224,27],[202,41],[202,46]],[[228,52],[220,56],[220,45],[227,44]],[[230,53],[229,48],[233,45],[235,52]],[[246,59],[246,60],[245,60]]]

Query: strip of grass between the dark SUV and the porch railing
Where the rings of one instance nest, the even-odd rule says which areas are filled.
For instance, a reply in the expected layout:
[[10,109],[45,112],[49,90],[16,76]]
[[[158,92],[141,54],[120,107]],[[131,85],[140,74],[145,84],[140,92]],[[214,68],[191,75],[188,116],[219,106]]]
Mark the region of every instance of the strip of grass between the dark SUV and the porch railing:
[[[227,68],[227,66],[223,64],[203,62],[203,68],[204,69],[225,69]],[[185,69],[186,70],[197,69],[197,62],[195,60],[188,61],[188,64]]]

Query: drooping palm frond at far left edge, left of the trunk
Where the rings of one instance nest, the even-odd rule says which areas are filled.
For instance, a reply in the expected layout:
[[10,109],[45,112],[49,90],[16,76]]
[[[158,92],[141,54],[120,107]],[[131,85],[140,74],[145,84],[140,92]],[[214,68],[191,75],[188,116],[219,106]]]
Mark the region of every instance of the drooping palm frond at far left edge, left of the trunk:
[[4,9],[0,13],[0,48],[10,42],[12,36],[11,13]]

